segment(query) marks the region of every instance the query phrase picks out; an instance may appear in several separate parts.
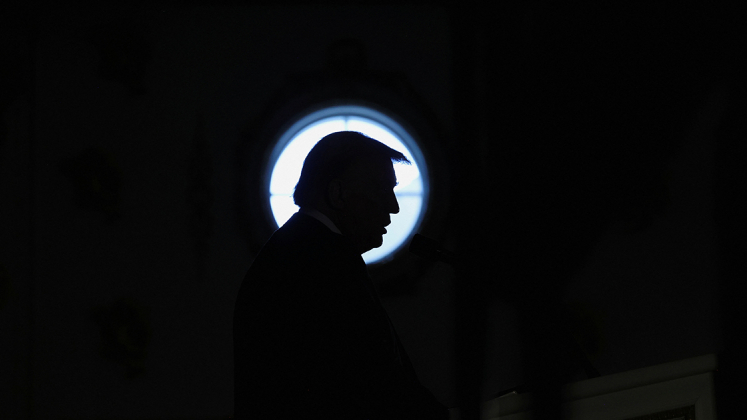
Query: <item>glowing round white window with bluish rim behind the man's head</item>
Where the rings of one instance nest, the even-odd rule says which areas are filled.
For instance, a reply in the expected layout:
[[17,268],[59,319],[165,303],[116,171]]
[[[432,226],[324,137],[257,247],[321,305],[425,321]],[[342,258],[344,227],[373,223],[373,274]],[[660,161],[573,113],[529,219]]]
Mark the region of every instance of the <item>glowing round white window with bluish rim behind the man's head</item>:
[[394,193],[400,211],[391,216],[383,244],[363,254],[367,264],[387,261],[414,234],[425,213],[428,194],[428,172],[415,140],[394,119],[372,108],[359,105],[338,105],[312,112],[281,134],[270,154],[268,200],[278,227],[298,211],[293,202],[293,190],[301,176],[306,155],[327,134],[337,131],[358,131],[404,154],[411,165],[396,163],[394,171],[399,183]]

